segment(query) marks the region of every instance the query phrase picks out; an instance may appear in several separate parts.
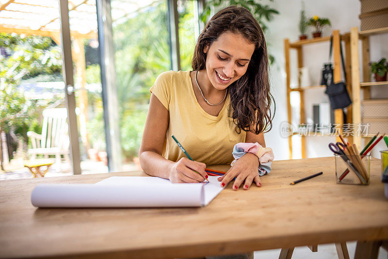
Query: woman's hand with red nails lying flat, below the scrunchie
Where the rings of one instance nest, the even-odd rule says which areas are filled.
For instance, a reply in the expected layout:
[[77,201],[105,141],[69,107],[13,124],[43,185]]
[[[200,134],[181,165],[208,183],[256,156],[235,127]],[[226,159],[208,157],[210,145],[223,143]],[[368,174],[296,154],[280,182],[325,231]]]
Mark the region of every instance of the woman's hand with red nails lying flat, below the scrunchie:
[[221,181],[221,186],[224,187],[233,178],[236,178],[232,187],[235,191],[237,191],[242,184],[242,188],[248,190],[253,181],[256,182],[258,187],[261,187],[258,157],[252,153],[246,153],[230,167],[224,176],[218,178],[218,180]]

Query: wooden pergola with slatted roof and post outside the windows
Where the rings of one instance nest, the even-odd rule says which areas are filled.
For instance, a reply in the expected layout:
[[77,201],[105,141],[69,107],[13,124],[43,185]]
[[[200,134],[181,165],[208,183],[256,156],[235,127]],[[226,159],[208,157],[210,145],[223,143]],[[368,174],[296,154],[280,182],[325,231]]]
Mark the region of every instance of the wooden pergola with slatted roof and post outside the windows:
[[[0,32],[51,37],[61,44],[60,12],[58,0],[0,0]],[[125,21],[131,14],[141,11],[160,0],[114,0],[113,21]],[[75,88],[79,97],[80,135],[86,148],[90,148],[86,130],[87,90],[84,39],[97,39],[96,0],[68,0],[72,58],[75,65]]]

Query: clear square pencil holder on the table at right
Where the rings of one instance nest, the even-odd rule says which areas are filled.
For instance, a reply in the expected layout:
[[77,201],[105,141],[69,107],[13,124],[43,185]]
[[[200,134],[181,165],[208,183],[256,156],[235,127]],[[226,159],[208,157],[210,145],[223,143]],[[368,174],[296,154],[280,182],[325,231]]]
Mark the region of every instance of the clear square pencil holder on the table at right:
[[371,155],[335,155],[337,183],[368,185]]

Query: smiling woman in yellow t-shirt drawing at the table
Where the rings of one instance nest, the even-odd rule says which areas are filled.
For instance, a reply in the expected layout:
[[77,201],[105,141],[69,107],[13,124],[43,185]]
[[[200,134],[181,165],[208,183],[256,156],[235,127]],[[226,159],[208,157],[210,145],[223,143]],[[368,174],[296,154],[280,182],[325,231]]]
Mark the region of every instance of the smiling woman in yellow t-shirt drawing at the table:
[[[265,147],[263,133],[272,126],[267,47],[247,9],[229,6],[210,19],[198,37],[192,67],[164,72],[151,87],[139,152],[147,174],[177,183],[202,182],[206,164],[232,162],[238,143]],[[247,190],[252,182],[261,186],[259,165],[256,154],[236,158],[219,178],[221,186],[233,178],[234,190],[241,185]]]

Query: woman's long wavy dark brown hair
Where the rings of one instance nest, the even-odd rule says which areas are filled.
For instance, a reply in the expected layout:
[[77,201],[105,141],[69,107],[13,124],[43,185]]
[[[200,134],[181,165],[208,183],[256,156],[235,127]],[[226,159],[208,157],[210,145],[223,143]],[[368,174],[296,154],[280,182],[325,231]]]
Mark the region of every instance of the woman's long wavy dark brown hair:
[[[193,70],[206,68],[206,46],[210,46],[224,32],[240,33],[255,45],[245,74],[229,86],[233,118],[239,129],[255,134],[272,129],[271,103],[268,79],[268,54],[263,31],[258,21],[244,7],[228,6],[215,14],[198,37],[194,49]],[[275,115],[275,112],[274,112]]]

